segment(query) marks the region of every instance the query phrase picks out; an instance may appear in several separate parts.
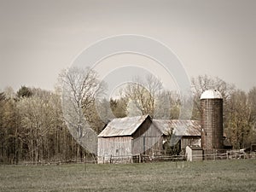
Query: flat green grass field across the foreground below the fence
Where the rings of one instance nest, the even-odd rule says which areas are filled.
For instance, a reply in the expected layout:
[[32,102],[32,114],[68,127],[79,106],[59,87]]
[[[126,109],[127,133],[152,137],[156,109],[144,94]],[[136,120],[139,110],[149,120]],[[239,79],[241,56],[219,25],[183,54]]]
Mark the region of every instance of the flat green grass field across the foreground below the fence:
[[0,191],[256,191],[256,160],[0,166]]

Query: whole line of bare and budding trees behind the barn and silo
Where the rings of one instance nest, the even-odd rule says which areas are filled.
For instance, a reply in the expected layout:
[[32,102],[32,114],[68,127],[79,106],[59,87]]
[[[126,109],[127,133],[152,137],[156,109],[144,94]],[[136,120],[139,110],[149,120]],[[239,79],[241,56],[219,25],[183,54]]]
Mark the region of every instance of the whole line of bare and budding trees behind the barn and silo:
[[[150,114],[155,119],[179,119],[183,104],[177,91],[165,90],[159,79],[148,76],[126,84],[119,96],[108,101],[106,84],[89,68],[72,68],[60,74],[54,91],[21,86],[0,92],[0,163],[22,161],[80,160],[92,157],[67,125],[83,137],[83,119],[96,134],[109,119]],[[224,134],[234,148],[246,148],[256,139],[256,87],[248,92],[219,78],[193,78],[191,119],[200,119],[200,96],[204,90],[219,90],[224,98]],[[63,114],[61,102],[73,106]],[[85,128],[84,128],[85,127]]]

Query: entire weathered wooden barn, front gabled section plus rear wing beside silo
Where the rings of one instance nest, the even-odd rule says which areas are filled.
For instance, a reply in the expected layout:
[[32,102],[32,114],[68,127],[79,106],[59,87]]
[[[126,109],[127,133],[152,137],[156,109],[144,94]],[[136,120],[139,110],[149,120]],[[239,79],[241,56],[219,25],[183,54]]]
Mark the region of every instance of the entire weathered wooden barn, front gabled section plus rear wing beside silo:
[[201,145],[199,121],[151,119],[149,115],[112,119],[98,135],[98,163],[117,156],[132,160],[139,154],[162,154],[171,132],[172,142],[179,142],[181,149]]

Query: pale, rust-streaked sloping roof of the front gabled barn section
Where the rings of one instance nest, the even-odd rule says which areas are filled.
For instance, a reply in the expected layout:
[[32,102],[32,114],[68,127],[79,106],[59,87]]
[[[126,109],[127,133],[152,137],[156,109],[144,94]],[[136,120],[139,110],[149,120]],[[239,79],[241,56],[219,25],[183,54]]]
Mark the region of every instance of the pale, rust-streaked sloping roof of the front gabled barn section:
[[131,136],[149,115],[112,119],[98,137]]

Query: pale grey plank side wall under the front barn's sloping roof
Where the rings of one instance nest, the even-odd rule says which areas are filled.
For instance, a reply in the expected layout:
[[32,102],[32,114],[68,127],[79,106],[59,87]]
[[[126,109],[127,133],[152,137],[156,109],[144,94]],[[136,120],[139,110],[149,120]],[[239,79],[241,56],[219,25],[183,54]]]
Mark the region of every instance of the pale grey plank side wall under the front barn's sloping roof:
[[126,155],[131,155],[131,137],[98,137],[98,163]]

